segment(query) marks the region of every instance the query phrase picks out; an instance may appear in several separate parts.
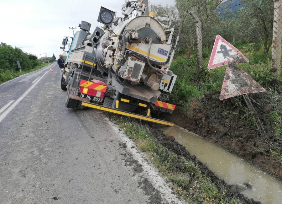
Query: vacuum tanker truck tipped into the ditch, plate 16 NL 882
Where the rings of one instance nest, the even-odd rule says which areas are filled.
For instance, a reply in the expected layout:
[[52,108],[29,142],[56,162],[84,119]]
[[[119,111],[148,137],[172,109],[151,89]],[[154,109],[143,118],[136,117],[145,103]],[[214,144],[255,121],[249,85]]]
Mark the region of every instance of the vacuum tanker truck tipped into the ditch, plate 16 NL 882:
[[123,17],[101,7],[98,22],[104,24],[90,33],[91,24],[81,21],[73,37],[63,39],[70,49],[61,78],[66,90],[65,106],[98,110],[173,126],[151,113],[172,114],[168,103],[177,76],[170,70],[180,30],[171,20],[145,15],[148,5],[128,1]]

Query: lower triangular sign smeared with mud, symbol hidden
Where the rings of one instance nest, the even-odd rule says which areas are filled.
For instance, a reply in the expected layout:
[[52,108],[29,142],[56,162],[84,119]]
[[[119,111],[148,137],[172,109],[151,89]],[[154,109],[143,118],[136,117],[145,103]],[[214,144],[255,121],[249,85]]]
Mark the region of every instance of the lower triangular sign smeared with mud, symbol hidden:
[[223,100],[242,94],[264,91],[265,89],[259,85],[259,83],[242,69],[237,67],[235,63],[229,63],[226,68],[219,99]]

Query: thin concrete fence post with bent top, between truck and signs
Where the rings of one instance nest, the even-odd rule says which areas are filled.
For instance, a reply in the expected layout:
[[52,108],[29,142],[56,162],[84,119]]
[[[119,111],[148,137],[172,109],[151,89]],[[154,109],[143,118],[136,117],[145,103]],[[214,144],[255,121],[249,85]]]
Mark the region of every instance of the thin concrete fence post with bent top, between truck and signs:
[[203,62],[203,47],[202,47],[202,23],[198,16],[190,11],[189,14],[196,22],[196,36],[197,36],[197,75],[199,76],[200,68]]

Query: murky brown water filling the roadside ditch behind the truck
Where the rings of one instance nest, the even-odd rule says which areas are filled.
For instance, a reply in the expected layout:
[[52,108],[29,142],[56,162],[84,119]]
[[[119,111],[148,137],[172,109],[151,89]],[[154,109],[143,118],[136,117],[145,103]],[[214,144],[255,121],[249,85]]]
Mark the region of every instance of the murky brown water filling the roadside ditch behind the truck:
[[282,203],[282,182],[274,177],[181,127],[162,130],[166,136],[174,136],[228,185],[238,185],[243,195],[265,204]]

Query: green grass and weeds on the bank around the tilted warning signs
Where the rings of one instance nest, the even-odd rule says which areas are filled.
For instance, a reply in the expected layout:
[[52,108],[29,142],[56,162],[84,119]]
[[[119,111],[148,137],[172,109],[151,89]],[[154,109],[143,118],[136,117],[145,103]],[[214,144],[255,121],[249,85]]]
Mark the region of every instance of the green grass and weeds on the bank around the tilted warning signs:
[[[271,94],[268,87],[273,86],[273,82],[276,83],[276,89],[282,87],[282,72],[280,75],[270,72],[271,68],[271,52],[266,54],[261,44],[238,44],[238,49],[246,56],[249,63],[239,63],[238,66],[249,74],[254,80],[256,80],[261,86],[267,89],[267,93]],[[207,69],[209,62],[211,49],[203,48],[203,63],[197,75],[197,59],[196,50],[192,51],[190,59],[186,56],[186,51],[180,50],[175,56],[175,59],[171,65],[171,70],[178,75],[175,82],[174,89],[170,94],[170,99],[176,105],[189,110],[192,101],[197,101],[201,104],[201,97],[204,94],[212,93],[214,91],[220,91],[222,89],[222,82],[226,66],[218,67],[212,70]],[[279,88],[280,87],[280,88]],[[281,94],[280,94],[281,96]],[[233,99],[238,99],[235,97]],[[250,126],[254,126],[252,116],[250,115],[248,108],[243,107],[241,101],[237,101],[238,115],[241,121],[244,121]],[[261,101],[263,105],[271,104],[271,101]],[[275,105],[277,109],[277,105]],[[279,109],[279,108],[278,108]],[[268,115],[268,118],[273,121],[271,127],[274,129],[275,135],[281,135],[281,111],[274,110],[274,112]]]

